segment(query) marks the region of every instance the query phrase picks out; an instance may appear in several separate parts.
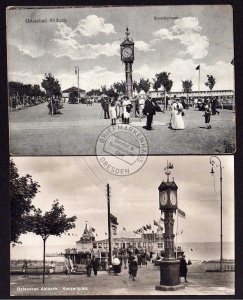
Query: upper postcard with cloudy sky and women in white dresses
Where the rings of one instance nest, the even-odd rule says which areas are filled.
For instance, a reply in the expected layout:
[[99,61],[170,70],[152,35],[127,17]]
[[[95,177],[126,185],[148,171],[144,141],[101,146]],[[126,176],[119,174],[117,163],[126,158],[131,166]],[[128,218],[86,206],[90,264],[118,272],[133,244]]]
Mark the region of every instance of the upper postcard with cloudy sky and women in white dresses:
[[9,7],[11,156],[234,154],[229,5]]

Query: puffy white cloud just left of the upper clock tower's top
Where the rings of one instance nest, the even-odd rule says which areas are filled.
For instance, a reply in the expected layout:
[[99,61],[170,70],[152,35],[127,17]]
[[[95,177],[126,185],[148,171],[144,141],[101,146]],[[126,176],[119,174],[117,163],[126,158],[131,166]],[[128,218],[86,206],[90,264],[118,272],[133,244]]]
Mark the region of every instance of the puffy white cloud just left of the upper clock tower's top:
[[99,32],[105,33],[106,35],[116,33],[112,24],[105,24],[105,20],[96,15],[90,15],[87,16],[86,19],[80,20],[75,31],[87,37],[96,36]]

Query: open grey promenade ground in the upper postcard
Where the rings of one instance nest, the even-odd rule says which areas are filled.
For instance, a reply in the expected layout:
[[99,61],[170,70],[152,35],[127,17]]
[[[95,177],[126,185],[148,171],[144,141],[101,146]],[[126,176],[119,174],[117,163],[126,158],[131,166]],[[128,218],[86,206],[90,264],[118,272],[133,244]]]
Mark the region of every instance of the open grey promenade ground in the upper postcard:
[[[11,111],[10,151],[13,155],[96,155],[99,134],[111,121],[103,119],[101,105],[64,104],[62,114],[48,115],[47,104]],[[234,112],[219,109],[211,117],[212,129],[207,130],[202,111],[185,110],[185,130],[168,128],[171,111],[156,113],[154,130],[143,129],[146,118],[140,122],[132,118],[131,125],[145,135],[149,154],[218,154],[224,153],[223,140],[235,141]]]

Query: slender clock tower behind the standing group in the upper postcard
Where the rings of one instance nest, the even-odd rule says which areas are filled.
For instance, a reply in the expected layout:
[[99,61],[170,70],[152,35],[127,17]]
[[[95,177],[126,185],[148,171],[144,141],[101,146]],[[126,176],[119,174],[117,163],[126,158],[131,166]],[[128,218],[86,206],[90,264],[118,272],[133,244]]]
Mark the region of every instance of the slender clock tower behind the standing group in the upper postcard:
[[133,40],[129,39],[129,30],[127,28],[126,37],[124,38],[124,41],[120,45],[121,49],[121,61],[125,63],[125,77],[126,77],[126,90],[127,90],[127,96],[131,100],[132,98],[132,64],[134,61],[134,42]]

